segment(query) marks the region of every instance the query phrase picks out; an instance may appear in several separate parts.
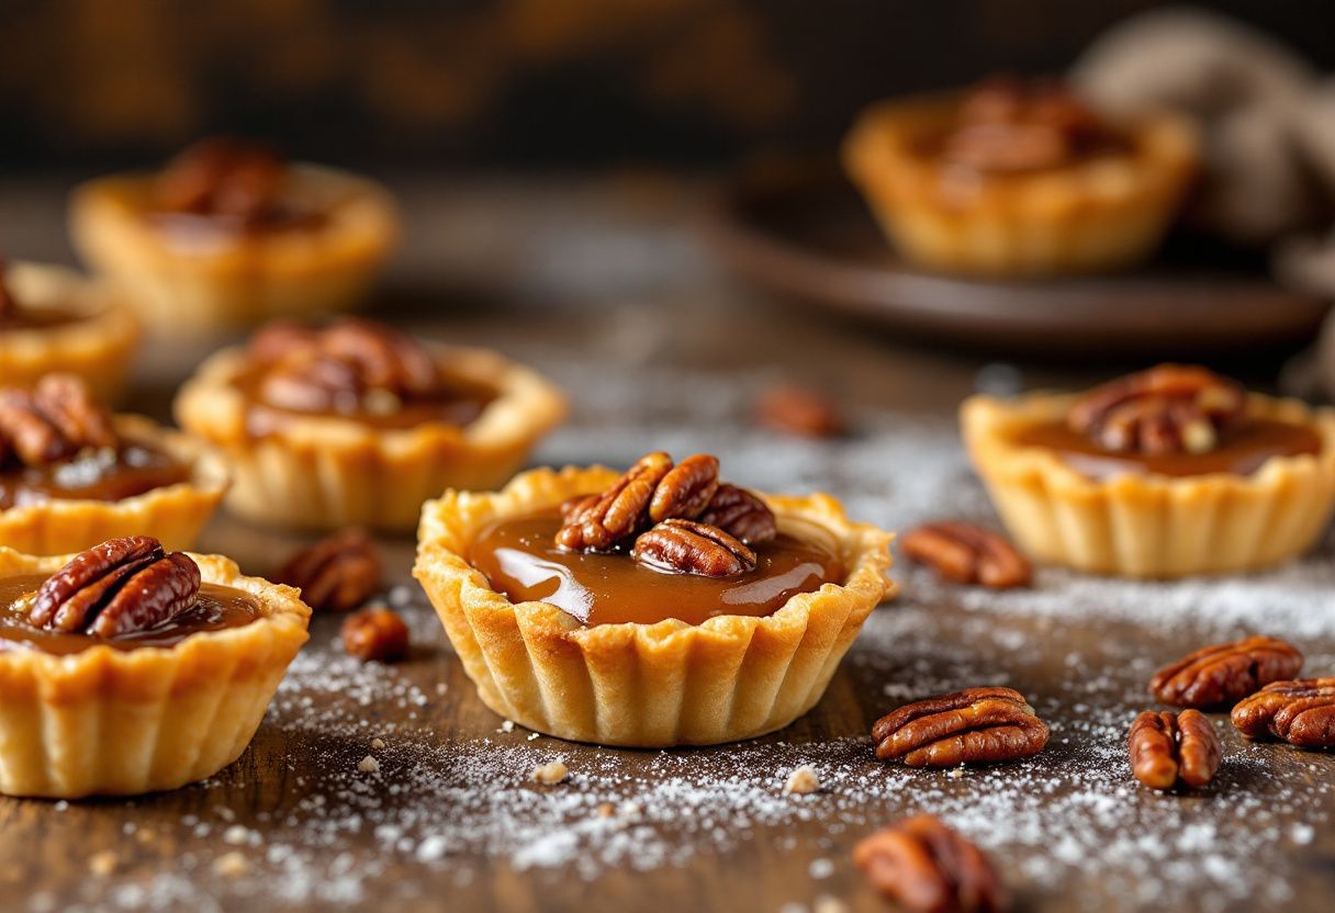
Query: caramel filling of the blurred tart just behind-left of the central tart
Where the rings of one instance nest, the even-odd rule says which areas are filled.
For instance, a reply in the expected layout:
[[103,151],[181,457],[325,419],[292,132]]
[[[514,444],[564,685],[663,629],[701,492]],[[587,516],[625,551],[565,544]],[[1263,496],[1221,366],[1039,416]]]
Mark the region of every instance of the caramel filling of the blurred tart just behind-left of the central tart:
[[[292,420],[299,418],[343,418],[368,424],[387,431],[406,431],[419,424],[441,422],[463,427],[477,420],[482,411],[498,395],[490,384],[455,375],[450,378],[445,392],[439,396],[422,399],[387,398],[380,403],[382,408],[338,410],[327,408],[319,411],[295,410],[287,406],[267,402],[260,392],[264,382],[264,368],[252,368],[236,378],[234,383],[250,400],[246,414],[246,428],[255,438],[282,431]],[[368,403],[379,400],[368,396]]]

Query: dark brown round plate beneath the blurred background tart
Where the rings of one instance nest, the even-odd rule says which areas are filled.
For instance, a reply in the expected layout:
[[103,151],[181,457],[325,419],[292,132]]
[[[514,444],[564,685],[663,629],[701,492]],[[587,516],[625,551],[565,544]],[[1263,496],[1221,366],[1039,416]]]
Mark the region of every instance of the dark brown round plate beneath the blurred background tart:
[[1290,291],[1256,255],[1173,239],[1140,270],[977,282],[905,263],[832,163],[769,163],[734,179],[708,226],[718,255],[769,291],[934,339],[1047,354],[1173,355],[1311,339],[1330,304]]

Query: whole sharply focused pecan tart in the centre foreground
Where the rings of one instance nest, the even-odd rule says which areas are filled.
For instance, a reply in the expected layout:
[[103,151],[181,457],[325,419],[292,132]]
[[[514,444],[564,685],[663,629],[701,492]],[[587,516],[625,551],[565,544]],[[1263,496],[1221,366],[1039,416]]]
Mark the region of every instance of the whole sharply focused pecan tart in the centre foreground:
[[414,574],[497,713],[582,742],[716,745],[820,701],[894,591],[890,538],[828,495],[650,454],[446,491],[422,510]]

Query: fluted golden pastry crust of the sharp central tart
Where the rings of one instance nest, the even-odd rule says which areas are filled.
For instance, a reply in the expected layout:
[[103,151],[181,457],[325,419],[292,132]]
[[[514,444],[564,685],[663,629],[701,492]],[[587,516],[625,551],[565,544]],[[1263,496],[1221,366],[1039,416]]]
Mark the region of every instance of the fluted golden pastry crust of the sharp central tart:
[[762,495],[780,531],[801,519],[837,539],[842,585],[792,597],[764,618],[585,627],[546,602],[513,603],[465,559],[489,522],[601,491],[619,473],[533,470],[502,491],[446,491],[422,509],[414,575],[483,703],[529,729],[579,742],[717,745],[781,729],[820,701],[862,622],[894,586],[892,535],[850,523],[828,495]]

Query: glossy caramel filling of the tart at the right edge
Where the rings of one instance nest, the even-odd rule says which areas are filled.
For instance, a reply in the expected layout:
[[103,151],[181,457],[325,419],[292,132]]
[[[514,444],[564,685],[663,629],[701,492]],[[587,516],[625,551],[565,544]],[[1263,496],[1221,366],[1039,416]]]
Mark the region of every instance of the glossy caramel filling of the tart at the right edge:
[[1264,418],[1251,418],[1230,428],[1219,446],[1204,454],[1113,452],[1071,430],[1064,420],[1031,424],[1016,432],[1013,439],[1025,447],[1056,451],[1067,466],[1096,481],[1128,473],[1171,477],[1216,473],[1251,475],[1275,456],[1322,451],[1322,436],[1311,426]]

